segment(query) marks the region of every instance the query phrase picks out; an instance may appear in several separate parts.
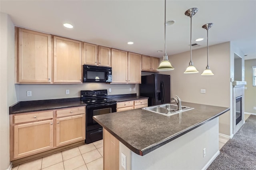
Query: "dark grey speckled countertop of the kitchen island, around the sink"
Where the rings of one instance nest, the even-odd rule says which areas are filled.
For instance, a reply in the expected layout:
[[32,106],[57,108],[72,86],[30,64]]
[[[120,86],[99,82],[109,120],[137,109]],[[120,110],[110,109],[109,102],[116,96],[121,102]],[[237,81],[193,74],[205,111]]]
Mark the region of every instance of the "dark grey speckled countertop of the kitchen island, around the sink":
[[182,102],[182,106],[194,109],[172,116],[134,109],[97,115],[93,119],[134,153],[143,156],[230,110],[188,102]]

